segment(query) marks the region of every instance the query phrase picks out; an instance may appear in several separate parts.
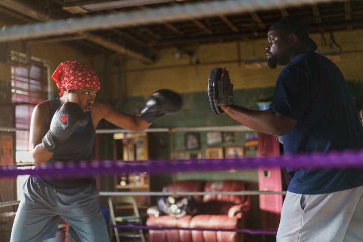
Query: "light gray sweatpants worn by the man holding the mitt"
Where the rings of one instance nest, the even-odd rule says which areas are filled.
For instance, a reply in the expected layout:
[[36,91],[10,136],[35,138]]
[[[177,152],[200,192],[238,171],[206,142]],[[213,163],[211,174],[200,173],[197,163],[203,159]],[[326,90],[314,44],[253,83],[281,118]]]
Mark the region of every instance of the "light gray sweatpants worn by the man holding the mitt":
[[335,193],[287,192],[277,242],[363,241],[363,186]]

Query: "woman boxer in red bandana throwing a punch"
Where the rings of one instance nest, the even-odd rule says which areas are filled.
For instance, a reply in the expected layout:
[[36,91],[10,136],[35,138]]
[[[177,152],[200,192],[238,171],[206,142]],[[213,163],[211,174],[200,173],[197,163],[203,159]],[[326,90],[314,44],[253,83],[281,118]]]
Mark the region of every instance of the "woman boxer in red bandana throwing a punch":
[[[39,103],[33,110],[30,143],[34,164],[89,160],[100,120],[124,129],[143,131],[165,113],[181,108],[180,96],[159,90],[140,115],[117,111],[96,101],[100,83],[89,66],[68,61],[52,75],[60,97]],[[39,242],[55,237],[59,219],[69,224],[75,241],[109,241],[105,219],[92,177],[30,176],[23,186],[24,197],[15,217],[11,241]]]

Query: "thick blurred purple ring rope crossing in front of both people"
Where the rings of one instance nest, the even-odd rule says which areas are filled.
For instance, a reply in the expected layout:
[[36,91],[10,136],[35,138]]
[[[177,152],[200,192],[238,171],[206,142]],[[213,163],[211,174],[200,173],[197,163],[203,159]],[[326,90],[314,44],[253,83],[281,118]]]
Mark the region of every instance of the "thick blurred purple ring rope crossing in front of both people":
[[363,150],[345,150],[341,152],[285,154],[276,157],[252,157],[232,159],[189,159],[189,160],[105,160],[81,162],[57,162],[44,164],[36,168],[21,168],[16,165],[0,166],[0,178],[18,175],[41,176],[84,176],[111,175],[119,173],[148,172],[171,173],[200,170],[254,169],[258,167],[290,168],[363,168]]

